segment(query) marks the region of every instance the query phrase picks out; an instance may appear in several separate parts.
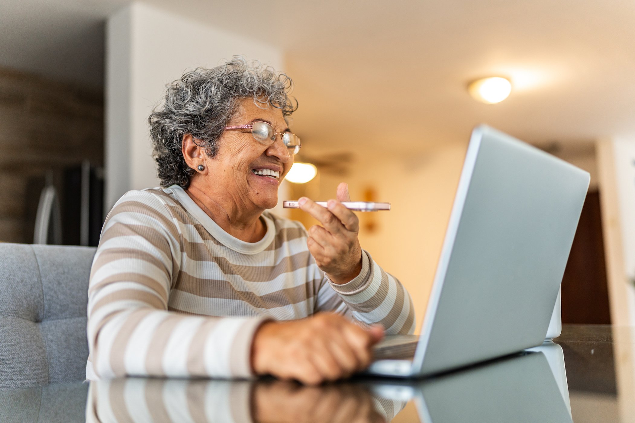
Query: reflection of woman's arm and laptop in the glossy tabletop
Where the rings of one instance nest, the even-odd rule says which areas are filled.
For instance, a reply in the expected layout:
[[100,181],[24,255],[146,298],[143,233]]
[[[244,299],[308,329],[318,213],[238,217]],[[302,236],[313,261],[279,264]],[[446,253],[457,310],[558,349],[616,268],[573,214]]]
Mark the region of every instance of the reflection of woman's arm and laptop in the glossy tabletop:
[[93,382],[86,420],[398,422],[410,400],[425,423],[572,421],[562,349],[552,342],[424,381],[361,379],[319,387],[276,380]]

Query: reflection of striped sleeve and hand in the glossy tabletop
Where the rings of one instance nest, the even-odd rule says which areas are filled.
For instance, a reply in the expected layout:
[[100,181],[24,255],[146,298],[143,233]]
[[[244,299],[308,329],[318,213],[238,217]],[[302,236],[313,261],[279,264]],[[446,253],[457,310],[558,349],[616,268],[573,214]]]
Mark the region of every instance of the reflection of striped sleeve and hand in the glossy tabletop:
[[367,389],[361,384],[276,387],[266,380],[108,379],[88,387],[86,423],[250,423],[261,414],[258,391],[269,391],[267,399],[274,398],[271,407],[284,404],[277,407],[277,415],[262,416],[271,422],[318,422],[329,417],[341,422],[351,410],[356,421],[370,417],[368,421],[390,422],[406,405]]

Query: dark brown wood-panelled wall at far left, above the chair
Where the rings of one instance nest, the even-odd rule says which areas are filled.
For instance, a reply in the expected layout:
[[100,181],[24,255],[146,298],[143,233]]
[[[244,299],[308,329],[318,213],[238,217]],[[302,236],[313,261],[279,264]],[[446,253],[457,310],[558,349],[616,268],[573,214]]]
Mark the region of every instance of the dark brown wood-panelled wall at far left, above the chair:
[[0,68],[0,242],[25,231],[30,176],[88,159],[104,164],[104,95]]

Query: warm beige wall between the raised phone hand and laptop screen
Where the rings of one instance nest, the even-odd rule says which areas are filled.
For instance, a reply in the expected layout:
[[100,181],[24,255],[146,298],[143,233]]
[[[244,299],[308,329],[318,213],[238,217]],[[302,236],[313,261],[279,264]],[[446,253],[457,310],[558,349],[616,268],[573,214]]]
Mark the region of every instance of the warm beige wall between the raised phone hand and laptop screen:
[[[363,200],[374,188],[377,201],[391,202],[389,212],[358,213],[359,241],[385,270],[404,284],[415,303],[417,333],[432,286],[441,244],[465,157],[467,143],[448,143],[415,157],[359,158],[348,176],[322,172],[319,181],[292,186],[293,199],[304,195],[319,200],[335,197],[335,188],[347,182],[352,200]],[[316,221],[293,211],[292,219],[307,226]],[[366,219],[376,219],[377,229],[364,229]]]

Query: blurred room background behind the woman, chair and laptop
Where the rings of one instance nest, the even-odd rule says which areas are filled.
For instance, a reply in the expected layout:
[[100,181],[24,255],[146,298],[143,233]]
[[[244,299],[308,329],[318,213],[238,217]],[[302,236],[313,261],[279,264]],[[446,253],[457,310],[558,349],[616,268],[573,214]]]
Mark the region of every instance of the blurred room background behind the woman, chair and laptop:
[[[601,0],[4,0],[0,241],[97,245],[123,193],[159,185],[147,117],[164,86],[244,55],[295,82],[290,127],[312,166],[280,202],[342,181],[391,202],[359,214],[360,241],[419,325],[481,123],[591,173],[563,323],[635,323],[634,18],[635,3]],[[490,104],[505,86],[484,77],[509,97]]]

